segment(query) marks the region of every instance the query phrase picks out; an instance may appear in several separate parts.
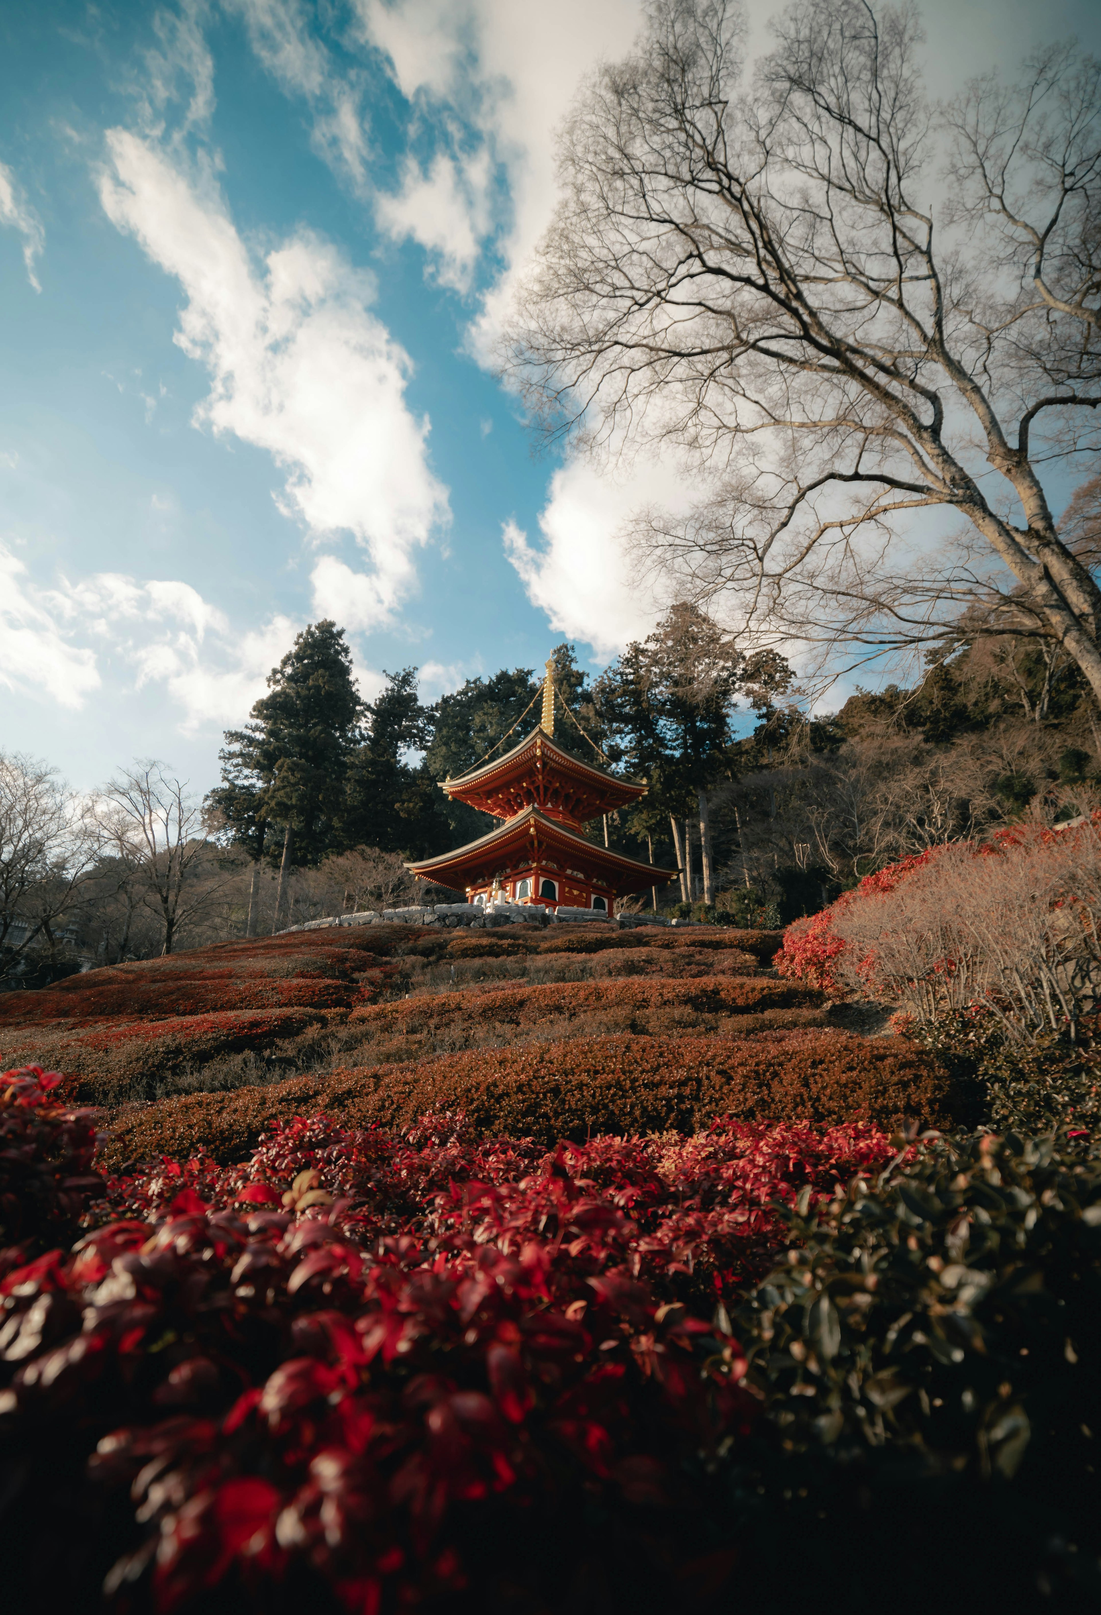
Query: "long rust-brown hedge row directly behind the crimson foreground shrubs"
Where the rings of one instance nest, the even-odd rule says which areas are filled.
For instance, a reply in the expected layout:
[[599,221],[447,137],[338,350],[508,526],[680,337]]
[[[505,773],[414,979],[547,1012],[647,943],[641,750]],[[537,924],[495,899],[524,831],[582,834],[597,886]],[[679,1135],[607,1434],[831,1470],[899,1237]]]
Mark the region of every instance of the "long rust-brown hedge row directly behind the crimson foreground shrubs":
[[550,1145],[599,1132],[694,1132],[720,1113],[741,1121],[943,1126],[952,1119],[952,1095],[904,1038],[872,1042],[831,1030],[594,1037],[350,1068],[128,1108],[107,1124],[108,1160],[202,1148],[236,1161],[273,1121],[313,1111],[352,1127],[407,1127],[429,1111],[462,1111],[478,1137],[512,1134]]

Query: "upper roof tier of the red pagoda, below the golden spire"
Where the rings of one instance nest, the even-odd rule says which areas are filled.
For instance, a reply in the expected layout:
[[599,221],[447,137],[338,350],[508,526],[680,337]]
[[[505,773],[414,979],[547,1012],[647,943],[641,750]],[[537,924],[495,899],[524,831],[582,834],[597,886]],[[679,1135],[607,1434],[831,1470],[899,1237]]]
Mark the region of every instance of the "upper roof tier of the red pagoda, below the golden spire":
[[[565,751],[542,725],[492,762],[484,762],[441,790],[496,819],[513,819],[538,806],[554,819],[584,824],[646,795],[646,785],[618,778]],[[471,843],[473,845],[473,843]]]

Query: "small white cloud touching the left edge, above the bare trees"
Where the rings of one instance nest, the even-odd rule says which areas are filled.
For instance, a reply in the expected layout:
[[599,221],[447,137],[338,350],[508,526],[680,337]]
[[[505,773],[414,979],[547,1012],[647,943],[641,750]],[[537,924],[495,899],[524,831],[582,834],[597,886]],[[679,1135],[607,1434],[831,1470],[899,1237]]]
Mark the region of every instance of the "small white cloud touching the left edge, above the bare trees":
[[0,546],[0,685],[77,709],[100,688],[95,652],[68,641],[27,568]]

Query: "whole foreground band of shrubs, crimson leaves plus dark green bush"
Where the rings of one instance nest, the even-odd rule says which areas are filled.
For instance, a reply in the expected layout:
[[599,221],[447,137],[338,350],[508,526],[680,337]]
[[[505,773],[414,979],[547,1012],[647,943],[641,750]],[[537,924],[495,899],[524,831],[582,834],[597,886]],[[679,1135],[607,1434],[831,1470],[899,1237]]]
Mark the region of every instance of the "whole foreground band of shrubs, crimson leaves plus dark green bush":
[[315,1118],[95,1182],[0,1090],[13,1607],[917,1610],[930,1526],[948,1607],[1096,1602],[1082,1143]]

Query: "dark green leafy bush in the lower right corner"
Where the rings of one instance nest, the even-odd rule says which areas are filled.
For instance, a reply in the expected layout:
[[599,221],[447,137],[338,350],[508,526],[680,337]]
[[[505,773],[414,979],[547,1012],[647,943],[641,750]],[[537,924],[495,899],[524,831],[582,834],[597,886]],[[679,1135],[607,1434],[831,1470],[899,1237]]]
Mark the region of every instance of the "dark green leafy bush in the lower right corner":
[[788,1219],[733,1318],[775,1433],[757,1576],[799,1541],[793,1602],[890,1578],[894,1610],[1095,1609],[1101,1164],[961,1139]]

